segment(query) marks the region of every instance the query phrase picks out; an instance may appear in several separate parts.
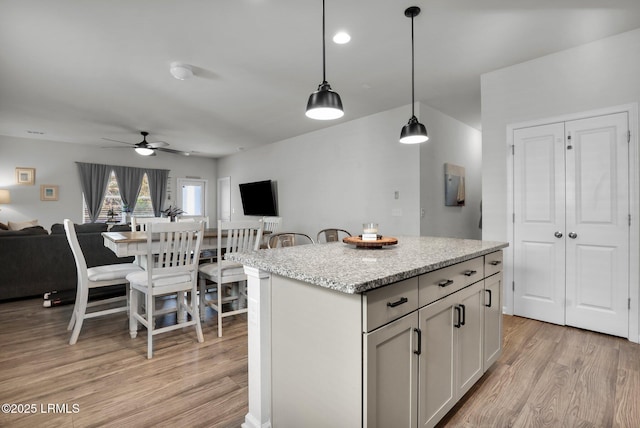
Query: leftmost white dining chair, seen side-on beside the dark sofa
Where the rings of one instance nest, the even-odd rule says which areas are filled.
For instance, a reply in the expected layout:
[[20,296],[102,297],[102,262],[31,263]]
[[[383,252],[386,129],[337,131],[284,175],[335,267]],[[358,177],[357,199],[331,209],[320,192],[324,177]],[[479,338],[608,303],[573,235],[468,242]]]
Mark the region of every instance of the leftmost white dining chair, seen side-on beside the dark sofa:
[[[71,320],[67,330],[73,329],[69,345],[74,345],[80,335],[84,320],[103,315],[114,314],[127,311],[128,285],[125,287],[125,294],[117,297],[107,297],[104,299],[89,302],[89,290],[110,287],[114,285],[127,284],[127,275],[133,272],[140,272],[142,268],[134,263],[117,263],[113,265],[94,266],[87,268],[87,262],[78,242],[76,229],[69,219],[64,220],[64,232],[71,247],[73,258],[76,262],[77,285],[76,301],[71,313]],[[124,302],[119,306],[114,306],[118,302]],[[88,308],[101,307],[102,309],[87,311]]]

